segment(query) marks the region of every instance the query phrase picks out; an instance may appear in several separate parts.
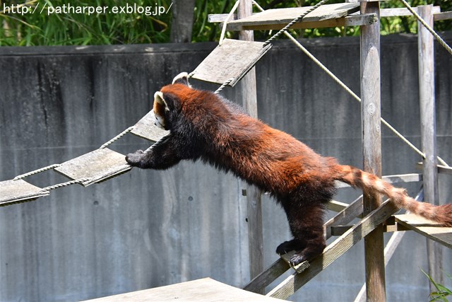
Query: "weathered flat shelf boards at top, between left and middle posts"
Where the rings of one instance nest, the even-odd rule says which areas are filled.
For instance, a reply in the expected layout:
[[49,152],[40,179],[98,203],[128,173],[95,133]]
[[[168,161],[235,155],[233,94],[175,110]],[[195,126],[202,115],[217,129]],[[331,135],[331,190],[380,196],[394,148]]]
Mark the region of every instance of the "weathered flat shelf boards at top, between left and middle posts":
[[[244,26],[256,25],[274,25],[290,23],[302,13],[309,10],[309,6],[292,8],[268,9],[261,13],[255,13],[252,16],[240,20],[234,20],[227,23],[227,30],[240,30]],[[317,22],[328,19],[342,18],[359,11],[359,4],[326,4],[305,16],[302,22]]]

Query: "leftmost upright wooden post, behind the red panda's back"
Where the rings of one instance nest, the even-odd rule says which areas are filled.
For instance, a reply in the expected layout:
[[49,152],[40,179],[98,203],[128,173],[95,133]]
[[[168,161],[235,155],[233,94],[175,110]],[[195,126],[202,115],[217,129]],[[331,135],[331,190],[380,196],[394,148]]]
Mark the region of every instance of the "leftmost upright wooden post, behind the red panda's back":
[[[242,0],[237,8],[237,17],[245,18],[253,11],[251,0]],[[239,32],[239,40],[254,40],[252,30]],[[241,81],[243,106],[251,117],[257,118],[256,69],[252,68]],[[251,279],[263,271],[263,231],[261,191],[257,187],[246,187],[247,221],[249,233],[249,271]]]

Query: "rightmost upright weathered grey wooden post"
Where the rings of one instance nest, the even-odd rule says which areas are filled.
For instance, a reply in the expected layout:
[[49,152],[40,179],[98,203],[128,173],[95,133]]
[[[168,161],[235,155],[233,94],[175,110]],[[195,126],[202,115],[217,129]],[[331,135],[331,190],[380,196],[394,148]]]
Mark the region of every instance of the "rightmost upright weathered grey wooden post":
[[[432,5],[418,7],[420,16],[433,27]],[[436,117],[435,117],[435,79],[434,79],[434,38],[424,26],[418,22],[417,47],[419,60],[419,96],[422,151],[425,153],[424,197],[425,201],[439,204],[438,169],[436,168]],[[429,274],[440,284],[443,282],[442,252],[439,243],[427,239],[427,255],[429,258]],[[430,291],[435,291],[430,283]]]

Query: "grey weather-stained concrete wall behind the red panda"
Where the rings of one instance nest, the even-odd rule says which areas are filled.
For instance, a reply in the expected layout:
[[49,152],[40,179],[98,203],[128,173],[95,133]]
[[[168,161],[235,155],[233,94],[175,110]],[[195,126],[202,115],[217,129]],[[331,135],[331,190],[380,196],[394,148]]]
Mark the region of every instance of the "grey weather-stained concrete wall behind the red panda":
[[[448,42],[452,41],[448,36]],[[383,37],[382,116],[417,146],[417,38]],[[307,40],[326,66],[359,94],[359,40]],[[0,48],[0,180],[97,149],[135,124],[153,93],[191,71],[214,44]],[[452,57],[436,47],[439,154],[452,163]],[[288,41],[257,66],[261,120],[342,163],[361,166],[359,104]],[[215,89],[206,83],[195,86]],[[236,88],[225,95],[240,103]],[[148,142],[127,134],[122,153]],[[420,156],[383,129],[383,174],[415,173]],[[27,179],[44,187],[66,178]],[[451,178],[441,176],[441,200]],[[408,185],[415,194],[420,184]],[[202,163],[133,169],[107,182],[52,191],[0,209],[0,301],[77,301],[213,277],[249,281],[242,182]],[[350,202],[359,192],[341,190]],[[285,215],[263,198],[266,266],[290,238]],[[426,239],[407,233],[387,269],[389,301],[426,301]],[[444,249],[444,271],[452,273]],[[362,243],[304,286],[294,301],[352,301],[364,282]]]

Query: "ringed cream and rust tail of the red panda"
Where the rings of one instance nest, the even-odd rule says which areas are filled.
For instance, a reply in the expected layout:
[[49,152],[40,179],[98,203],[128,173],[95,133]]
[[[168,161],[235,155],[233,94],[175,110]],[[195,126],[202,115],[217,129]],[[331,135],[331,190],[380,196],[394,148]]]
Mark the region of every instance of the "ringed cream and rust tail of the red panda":
[[350,165],[335,165],[334,170],[335,180],[345,182],[352,187],[359,187],[364,192],[379,192],[391,199],[396,207],[407,209],[412,214],[436,221],[443,226],[452,226],[452,204],[434,206],[427,202],[417,202],[408,196],[405,189],[393,187],[376,175],[366,173]]

